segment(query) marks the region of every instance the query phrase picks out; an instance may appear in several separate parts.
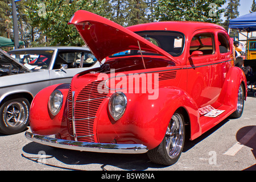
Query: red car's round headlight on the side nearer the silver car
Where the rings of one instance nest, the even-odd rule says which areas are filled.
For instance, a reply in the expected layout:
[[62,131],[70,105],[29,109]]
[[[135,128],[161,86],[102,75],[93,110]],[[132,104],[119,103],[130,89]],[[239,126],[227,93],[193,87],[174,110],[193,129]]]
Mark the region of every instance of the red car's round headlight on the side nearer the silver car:
[[63,94],[60,92],[60,90],[54,90],[48,101],[49,111],[52,115],[56,115],[57,113],[59,113],[62,103]]

